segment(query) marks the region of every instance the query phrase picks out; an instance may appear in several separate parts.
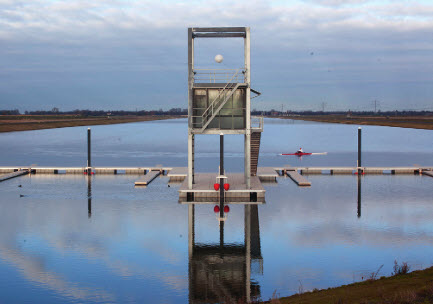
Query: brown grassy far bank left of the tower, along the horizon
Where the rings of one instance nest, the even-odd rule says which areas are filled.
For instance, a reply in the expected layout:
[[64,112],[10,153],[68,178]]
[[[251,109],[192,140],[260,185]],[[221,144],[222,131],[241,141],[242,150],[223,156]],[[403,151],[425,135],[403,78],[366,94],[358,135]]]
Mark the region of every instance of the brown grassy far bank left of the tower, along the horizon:
[[115,116],[76,117],[73,115],[7,115],[0,116],[0,132],[29,131],[78,126],[111,125],[119,123],[180,118],[180,116]]

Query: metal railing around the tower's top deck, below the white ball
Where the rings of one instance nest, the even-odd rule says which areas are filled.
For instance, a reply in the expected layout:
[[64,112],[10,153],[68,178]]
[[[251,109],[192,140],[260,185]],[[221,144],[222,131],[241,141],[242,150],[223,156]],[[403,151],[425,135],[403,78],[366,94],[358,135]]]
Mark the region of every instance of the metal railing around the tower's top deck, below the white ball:
[[[241,72],[241,73],[239,73]],[[233,75],[236,75],[233,78]],[[196,83],[245,82],[245,71],[242,69],[194,69]]]

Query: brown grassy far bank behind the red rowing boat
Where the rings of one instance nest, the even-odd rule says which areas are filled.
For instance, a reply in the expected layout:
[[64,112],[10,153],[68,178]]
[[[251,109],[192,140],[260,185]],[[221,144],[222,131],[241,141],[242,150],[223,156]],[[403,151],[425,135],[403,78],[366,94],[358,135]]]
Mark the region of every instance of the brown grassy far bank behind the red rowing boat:
[[329,114],[329,115],[311,115],[311,116],[310,115],[276,116],[274,118],[433,130],[432,116],[395,116],[395,117],[393,116],[350,116],[348,117],[347,115]]

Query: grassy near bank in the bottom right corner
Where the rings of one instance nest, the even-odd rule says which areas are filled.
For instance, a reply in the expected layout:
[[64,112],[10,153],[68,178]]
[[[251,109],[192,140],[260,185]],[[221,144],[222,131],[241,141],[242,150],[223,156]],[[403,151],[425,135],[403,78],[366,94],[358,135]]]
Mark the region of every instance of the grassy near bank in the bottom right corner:
[[433,267],[408,274],[315,290],[285,298],[273,298],[274,304],[409,304],[433,303]]

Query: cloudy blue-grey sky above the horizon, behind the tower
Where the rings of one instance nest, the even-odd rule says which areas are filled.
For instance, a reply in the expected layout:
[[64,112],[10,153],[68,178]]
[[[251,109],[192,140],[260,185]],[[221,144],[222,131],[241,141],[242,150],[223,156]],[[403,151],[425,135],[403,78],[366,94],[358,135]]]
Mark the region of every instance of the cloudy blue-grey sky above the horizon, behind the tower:
[[[0,109],[187,108],[212,26],[251,28],[253,109],[433,110],[431,0],[0,0]],[[242,67],[242,39],[196,40],[196,68]]]

